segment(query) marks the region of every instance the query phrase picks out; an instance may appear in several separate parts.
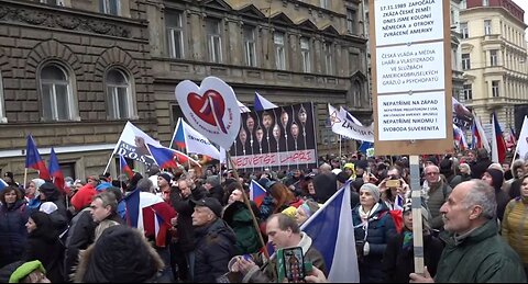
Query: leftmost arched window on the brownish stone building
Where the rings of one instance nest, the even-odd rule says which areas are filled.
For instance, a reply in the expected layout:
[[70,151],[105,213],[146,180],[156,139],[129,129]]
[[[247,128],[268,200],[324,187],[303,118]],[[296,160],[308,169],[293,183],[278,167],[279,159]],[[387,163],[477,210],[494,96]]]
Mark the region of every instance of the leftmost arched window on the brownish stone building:
[[48,64],[41,69],[40,78],[43,120],[74,120],[75,104],[68,71],[57,64]]

